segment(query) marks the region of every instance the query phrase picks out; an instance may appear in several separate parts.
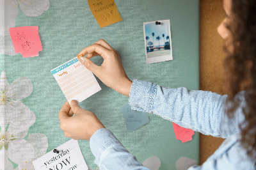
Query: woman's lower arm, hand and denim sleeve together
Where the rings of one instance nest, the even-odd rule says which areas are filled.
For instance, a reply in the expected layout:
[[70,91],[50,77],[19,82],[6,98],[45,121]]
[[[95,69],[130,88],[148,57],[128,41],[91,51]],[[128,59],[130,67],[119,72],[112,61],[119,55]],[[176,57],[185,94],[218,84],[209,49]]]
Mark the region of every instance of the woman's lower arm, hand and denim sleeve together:
[[103,169],[147,169],[129,153],[93,112],[81,109],[76,100],[60,110],[60,127],[66,137],[90,140],[95,164]]

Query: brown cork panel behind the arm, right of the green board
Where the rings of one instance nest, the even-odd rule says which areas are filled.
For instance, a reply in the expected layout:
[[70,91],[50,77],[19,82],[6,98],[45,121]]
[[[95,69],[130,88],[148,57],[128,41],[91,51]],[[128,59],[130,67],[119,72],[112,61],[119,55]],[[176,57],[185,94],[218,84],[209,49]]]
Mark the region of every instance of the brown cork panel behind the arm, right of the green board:
[[[223,43],[217,27],[225,17],[221,0],[200,0],[200,89],[225,94]],[[223,142],[223,139],[200,134],[200,164]]]

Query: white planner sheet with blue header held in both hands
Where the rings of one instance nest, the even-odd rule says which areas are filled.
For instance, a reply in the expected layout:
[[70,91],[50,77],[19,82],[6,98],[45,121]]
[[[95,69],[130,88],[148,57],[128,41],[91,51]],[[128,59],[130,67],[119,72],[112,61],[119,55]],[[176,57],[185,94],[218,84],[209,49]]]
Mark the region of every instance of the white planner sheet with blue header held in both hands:
[[68,103],[71,100],[82,102],[84,99],[100,91],[94,75],[77,58],[67,61],[51,70]]

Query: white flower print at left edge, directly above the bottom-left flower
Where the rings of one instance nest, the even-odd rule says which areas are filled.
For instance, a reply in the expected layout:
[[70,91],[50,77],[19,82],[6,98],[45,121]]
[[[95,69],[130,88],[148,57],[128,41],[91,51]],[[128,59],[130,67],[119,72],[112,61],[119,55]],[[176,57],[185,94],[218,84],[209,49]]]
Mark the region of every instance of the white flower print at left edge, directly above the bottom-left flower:
[[[15,125],[27,121],[34,114],[22,103],[22,99],[29,97],[33,91],[33,84],[28,77],[20,77],[11,84],[6,80],[6,73],[1,73],[0,79],[0,127],[8,124]],[[34,114],[35,115],[35,114]]]

